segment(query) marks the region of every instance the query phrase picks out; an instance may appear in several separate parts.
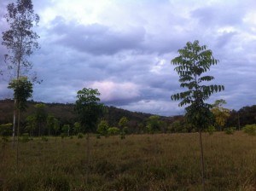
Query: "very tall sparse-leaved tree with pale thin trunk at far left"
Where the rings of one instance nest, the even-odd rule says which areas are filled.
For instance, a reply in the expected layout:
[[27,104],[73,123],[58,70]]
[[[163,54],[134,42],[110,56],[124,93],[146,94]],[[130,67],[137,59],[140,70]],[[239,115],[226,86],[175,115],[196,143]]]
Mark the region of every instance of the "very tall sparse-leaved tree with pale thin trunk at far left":
[[[3,32],[2,44],[9,50],[9,54],[4,55],[5,61],[11,72],[14,73],[16,80],[20,74],[24,75],[32,63],[27,58],[32,55],[35,49],[38,49],[36,32],[32,31],[34,25],[38,25],[39,16],[34,14],[32,0],[17,0],[16,3],[9,3],[7,6],[8,13],[5,19],[9,24],[9,30]],[[36,78],[34,78],[36,80]],[[16,123],[16,106],[15,100],[13,139],[15,143],[15,123]]]

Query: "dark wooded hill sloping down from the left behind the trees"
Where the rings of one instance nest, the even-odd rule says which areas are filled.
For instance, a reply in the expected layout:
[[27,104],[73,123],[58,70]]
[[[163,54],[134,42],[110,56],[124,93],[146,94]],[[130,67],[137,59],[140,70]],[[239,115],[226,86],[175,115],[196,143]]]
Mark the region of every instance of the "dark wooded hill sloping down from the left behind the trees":
[[[21,123],[23,123],[28,115],[35,113],[36,104],[42,103],[37,101],[28,101],[28,108],[25,113],[21,113]],[[74,111],[74,104],[71,103],[44,103],[46,105],[47,113],[53,114],[56,119],[59,119],[61,124],[73,124],[77,121],[77,116]],[[0,124],[11,123],[13,120],[13,100],[1,100],[0,101]],[[117,107],[107,107],[108,112],[105,113],[104,119],[108,120],[108,123],[112,126],[117,126],[119,119],[126,117],[129,119],[130,125],[136,126],[137,124],[146,123],[146,120],[152,114],[149,113],[137,113],[131,112],[125,109]],[[161,119],[168,121],[171,118],[160,117]]]

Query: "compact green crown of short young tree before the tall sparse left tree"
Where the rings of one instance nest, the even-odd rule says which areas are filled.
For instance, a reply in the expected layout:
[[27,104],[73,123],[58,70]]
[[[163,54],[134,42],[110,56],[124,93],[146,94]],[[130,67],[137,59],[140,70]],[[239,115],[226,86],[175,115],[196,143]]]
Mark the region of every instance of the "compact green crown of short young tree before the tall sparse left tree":
[[26,100],[32,97],[32,83],[27,80],[27,77],[13,79],[8,86],[14,90],[14,97],[17,100],[16,107],[20,110],[26,109]]

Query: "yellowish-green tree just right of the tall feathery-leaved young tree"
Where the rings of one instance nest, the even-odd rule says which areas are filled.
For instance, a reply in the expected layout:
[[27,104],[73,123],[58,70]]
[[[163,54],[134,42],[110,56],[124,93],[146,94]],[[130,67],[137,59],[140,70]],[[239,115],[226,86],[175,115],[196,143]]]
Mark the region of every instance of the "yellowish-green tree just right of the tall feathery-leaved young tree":
[[226,103],[226,101],[220,99],[212,104],[211,112],[215,117],[215,125],[217,128],[219,127],[219,130],[223,129],[227,119],[230,117],[230,109],[223,107]]

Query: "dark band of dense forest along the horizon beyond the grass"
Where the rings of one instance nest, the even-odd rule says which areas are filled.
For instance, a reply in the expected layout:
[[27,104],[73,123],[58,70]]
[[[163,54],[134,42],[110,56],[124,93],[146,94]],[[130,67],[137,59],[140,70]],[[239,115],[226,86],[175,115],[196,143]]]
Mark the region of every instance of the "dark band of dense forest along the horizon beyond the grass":
[[[62,127],[64,125],[69,125],[71,134],[73,133],[73,126],[75,122],[79,121],[77,114],[74,110],[74,104],[72,103],[42,103],[37,101],[29,101],[26,112],[20,114],[20,133],[26,133],[28,117],[33,116],[38,113],[38,108],[35,107],[37,104],[44,104],[43,114],[44,118],[41,121],[41,131],[42,136],[44,135],[60,135],[62,132]],[[13,100],[2,100],[0,101],[0,124],[12,123],[13,120]],[[106,112],[102,116],[102,119],[108,121],[110,127],[119,127],[119,120],[125,117],[128,119],[126,124],[129,129],[129,133],[148,133],[148,119],[150,116],[154,116],[150,113],[137,113],[131,112],[125,109],[117,107],[108,107],[106,106]],[[42,112],[42,111],[41,111]],[[59,122],[59,129],[54,130],[51,128],[49,130],[47,124],[47,117],[53,116]],[[251,107],[242,107],[238,111],[230,111],[230,116],[226,119],[224,128],[234,128],[236,130],[241,130],[241,128],[246,124],[256,124],[256,105]],[[172,116],[164,117],[158,116],[160,120],[160,125],[156,131],[160,132],[193,132],[194,128],[186,122],[183,116]],[[100,120],[99,120],[100,122]],[[37,125],[36,125],[37,126]],[[37,128],[33,130],[33,135],[37,136]],[[224,130],[220,129],[220,130]],[[216,130],[219,130],[216,128]],[[96,130],[95,130],[96,131]]]

